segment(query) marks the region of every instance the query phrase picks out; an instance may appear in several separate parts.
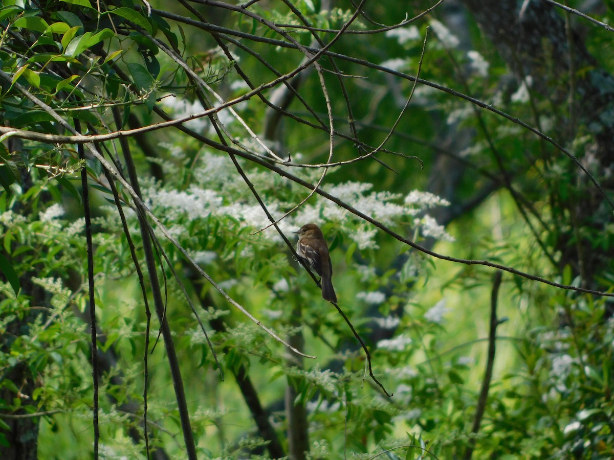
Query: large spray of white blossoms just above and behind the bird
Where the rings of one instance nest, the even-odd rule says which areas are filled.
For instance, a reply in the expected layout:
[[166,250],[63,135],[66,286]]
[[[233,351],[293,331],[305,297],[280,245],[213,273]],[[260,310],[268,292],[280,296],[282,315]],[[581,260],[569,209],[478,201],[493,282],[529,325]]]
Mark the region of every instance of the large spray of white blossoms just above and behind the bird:
[[[238,199],[246,196],[247,186],[236,178],[236,169],[233,164],[220,155],[202,153],[199,166],[193,171],[196,183],[187,190],[165,190],[160,185],[152,183],[144,189],[146,202],[153,207],[158,215],[167,221],[178,222],[188,220],[206,219],[211,216],[229,216],[239,220],[252,229],[262,229],[269,226],[270,221],[259,204],[254,200]],[[264,196],[267,190],[273,191],[278,187],[277,177],[266,173],[253,173],[250,175],[252,183]],[[422,236],[437,239],[451,240],[445,229],[438,225],[432,217],[416,217],[418,213],[437,205],[449,203],[432,193],[412,191],[407,196],[391,193],[389,191],[373,191],[373,184],[359,182],[345,182],[330,186],[328,193],[338,197],[341,201],[360,212],[390,226],[395,223],[413,223]],[[281,201],[268,201],[267,209],[275,218],[281,217],[283,212],[291,209],[293,203]],[[163,210],[163,212],[160,212]],[[300,228],[308,222],[335,221],[342,223],[348,221],[351,213],[332,201],[314,196],[308,203],[300,207],[298,212],[289,215],[279,223],[284,233]],[[416,217],[416,218],[413,218]],[[181,218],[181,219],[180,219]],[[185,223],[177,228],[169,228],[172,234],[181,234]],[[345,228],[348,237],[354,241],[360,250],[376,248],[375,236],[378,229],[366,222],[359,225],[350,225]],[[262,232],[262,237],[277,241],[281,240],[278,232],[273,228]]]

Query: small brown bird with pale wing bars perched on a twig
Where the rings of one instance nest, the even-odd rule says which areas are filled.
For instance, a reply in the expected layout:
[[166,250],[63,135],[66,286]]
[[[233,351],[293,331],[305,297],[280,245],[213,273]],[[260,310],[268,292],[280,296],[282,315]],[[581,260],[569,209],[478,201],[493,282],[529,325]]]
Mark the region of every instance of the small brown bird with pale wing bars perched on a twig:
[[298,233],[298,256],[321,276],[322,298],[336,303],[337,296],[331,280],[333,264],[330,263],[328,246],[321,229],[316,224],[305,224],[294,233]]

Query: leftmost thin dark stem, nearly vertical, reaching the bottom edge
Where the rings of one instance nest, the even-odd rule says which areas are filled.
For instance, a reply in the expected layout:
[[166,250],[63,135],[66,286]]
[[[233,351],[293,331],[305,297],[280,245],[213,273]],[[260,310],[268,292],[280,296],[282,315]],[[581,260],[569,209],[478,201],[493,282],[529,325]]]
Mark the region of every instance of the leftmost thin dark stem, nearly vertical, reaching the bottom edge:
[[[80,131],[79,120],[75,118],[76,131]],[[85,160],[83,144],[77,147],[79,159]],[[93,424],[94,424],[94,458],[98,459],[98,443],[100,429],[98,426],[98,339],[96,339],[96,301],[94,296],[94,248],[91,241],[90,194],[87,184],[87,169],[81,170],[81,188],[83,193],[83,209],[85,217],[85,243],[87,245],[87,280],[90,295],[90,329],[91,329],[91,377],[93,379]]]

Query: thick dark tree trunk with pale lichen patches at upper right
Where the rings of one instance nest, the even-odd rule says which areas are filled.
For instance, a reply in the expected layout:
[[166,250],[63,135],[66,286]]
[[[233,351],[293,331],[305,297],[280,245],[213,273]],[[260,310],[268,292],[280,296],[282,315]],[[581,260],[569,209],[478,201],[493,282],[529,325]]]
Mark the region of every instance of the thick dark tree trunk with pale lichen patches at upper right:
[[[530,78],[532,98],[548,103],[551,113],[545,114],[554,115],[558,123],[555,140],[567,147],[577,137],[591,134],[592,141],[585,149],[572,153],[605,191],[611,191],[614,78],[597,67],[562,11],[543,0],[464,0],[464,4],[518,81]],[[572,177],[565,190],[550,188],[550,200],[555,205],[556,233],[552,240],[561,254],[559,266],[569,264],[585,287],[604,288],[594,275],[610,264],[602,248],[612,247],[611,237],[604,241],[609,234],[607,225],[612,223],[612,209],[589,177],[564,153],[547,151],[545,167],[556,162]],[[556,214],[557,208],[562,212]]]

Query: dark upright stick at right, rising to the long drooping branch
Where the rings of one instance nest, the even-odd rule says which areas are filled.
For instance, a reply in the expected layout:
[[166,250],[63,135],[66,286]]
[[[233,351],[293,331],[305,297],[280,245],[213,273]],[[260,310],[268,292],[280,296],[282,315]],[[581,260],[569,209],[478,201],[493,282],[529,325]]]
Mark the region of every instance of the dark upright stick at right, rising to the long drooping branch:
[[475,449],[475,435],[480,431],[480,424],[486,409],[486,399],[488,399],[488,390],[491,386],[492,380],[492,367],[495,361],[495,345],[497,342],[497,326],[499,326],[499,320],[497,320],[497,296],[499,296],[499,288],[501,286],[502,272],[497,271],[492,280],[491,291],[491,328],[488,335],[488,356],[486,358],[486,371],[484,372],[484,381],[482,382],[482,388],[480,390],[480,397],[478,397],[478,404],[475,407],[475,418],[473,418],[473,427],[471,429],[474,435],[469,440],[469,447],[465,451],[465,460],[470,460]]

